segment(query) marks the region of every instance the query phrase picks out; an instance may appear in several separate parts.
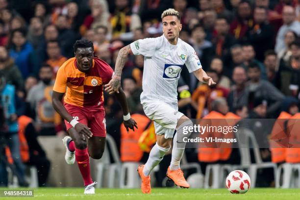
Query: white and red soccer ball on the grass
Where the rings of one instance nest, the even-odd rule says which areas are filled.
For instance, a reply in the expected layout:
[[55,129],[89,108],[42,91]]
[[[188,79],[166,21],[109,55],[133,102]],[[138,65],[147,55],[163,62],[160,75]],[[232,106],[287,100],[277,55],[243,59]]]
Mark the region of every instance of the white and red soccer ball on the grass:
[[250,189],[250,177],[242,170],[234,170],[227,175],[225,184],[232,194],[244,194]]

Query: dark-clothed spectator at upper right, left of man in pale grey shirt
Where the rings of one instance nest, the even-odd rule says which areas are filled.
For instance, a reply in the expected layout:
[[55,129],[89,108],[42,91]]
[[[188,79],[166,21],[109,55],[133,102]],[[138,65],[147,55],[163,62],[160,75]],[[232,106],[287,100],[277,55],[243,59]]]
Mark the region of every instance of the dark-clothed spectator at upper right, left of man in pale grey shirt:
[[255,58],[262,62],[265,51],[274,47],[274,30],[268,24],[268,11],[265,7],[255,7],[253,17],[254,24],[248,32],[247,41],[250,42],[255,50]]

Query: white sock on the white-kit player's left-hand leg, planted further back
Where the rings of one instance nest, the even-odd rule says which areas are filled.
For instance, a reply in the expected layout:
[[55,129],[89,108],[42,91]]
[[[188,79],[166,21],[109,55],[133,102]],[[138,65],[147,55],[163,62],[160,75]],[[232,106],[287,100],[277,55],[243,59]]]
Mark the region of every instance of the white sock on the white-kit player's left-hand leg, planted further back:
[[165,149],[165,148],[159,147],[157,145],[157,143],[153,146],[153,148],[150,151],[149,158],[148,158],[148,160],[145,164],[144,170],[143,170],[144,175],[146,175],[146,176],[150,175],[153,168],[160,163],[160,161],[163,159],[165,153],[168,152],[170,150],[170,148]]

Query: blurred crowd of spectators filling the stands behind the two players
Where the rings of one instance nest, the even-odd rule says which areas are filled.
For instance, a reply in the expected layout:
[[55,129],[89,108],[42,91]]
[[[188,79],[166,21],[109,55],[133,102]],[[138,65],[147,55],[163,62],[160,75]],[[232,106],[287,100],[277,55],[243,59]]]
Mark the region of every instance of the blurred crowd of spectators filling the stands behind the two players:
[[[74,57],[75,41],[91,40],[95,55],[114,69],[122,47],[162,35],[160,16],[170,7],[181,14],[179,38],[217,83],[200,84],[183,68],[180,112],[197,119],[212,111],[253,119],[299,112],[298,0],[0,0],[0,185],[7,185],[7,165],[23,186],[25,165],[36,166],[39,186],[46,185],[50,161],[37,137],[66,134],[51,91],[58,68]],[[143,65],[142,55],[131,55],[122,75],[132,114],[144,115]],[[104,100],[107,132],[120,149],[122,109],[113,96]],[[192,154],[188,160],[195,161]]]

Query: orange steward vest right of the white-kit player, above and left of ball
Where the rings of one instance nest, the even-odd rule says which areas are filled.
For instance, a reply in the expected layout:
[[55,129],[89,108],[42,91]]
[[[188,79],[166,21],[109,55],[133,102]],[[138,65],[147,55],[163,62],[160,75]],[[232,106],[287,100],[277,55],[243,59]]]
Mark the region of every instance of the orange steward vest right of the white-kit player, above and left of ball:
[[[220,119],[220,121],[207,121],[208,119]],[[225,119],[232,119],[226,121]],[[236,119],[236,120],[233,120]],[[233,114],[233,113],[227,113],[226,115],[223,115],[219,112],[212,111],[208,115],[206,115],[202,122],[204,122],[203,125],[210,125],[210,126],[233,126],[235,125],[239,120],[240,117]],[[200,122],[201,123],[201,122]],[[225,138],[230,139],[233,138],[233,133],[229,132],[227,134],[223,133],[204,133],[205,137],[217,137],[217,138]],[[201,136],[203,138],[203,135]],[[216,162],[218,160],[227,160],[232,152],[231,148],[227,148],[228,146],[231,146],[231,144],[225,144],[226,146],[223,148],[223,144],[220,145],[220,143],[214,143],[213,148],[209,148],[211,144],[208,144],[205,142],[204,138],[204,147],[199,147],[198,149],[198,160],[201,162]],[[216,146],[217,145],[217,146]],[[207,148],[208,147],[208,148]]]

